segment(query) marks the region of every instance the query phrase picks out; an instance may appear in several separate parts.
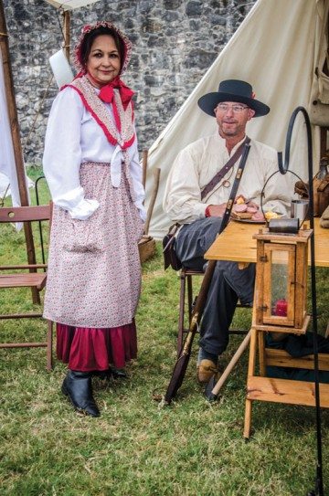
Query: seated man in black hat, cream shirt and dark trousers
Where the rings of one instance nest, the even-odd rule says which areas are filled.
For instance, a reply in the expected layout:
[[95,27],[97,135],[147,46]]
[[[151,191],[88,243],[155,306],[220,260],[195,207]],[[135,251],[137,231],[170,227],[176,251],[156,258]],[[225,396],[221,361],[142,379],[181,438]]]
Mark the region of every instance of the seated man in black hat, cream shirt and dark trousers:
[[[266,115],[270,108],[254,98],[249,83],[238,79],[222,81],[218,91],[198,100],[198,106],[216,118],[218,129],[211,136],[192,142],[176,157],[164,192],[164,212],[181,225],[175,239],[178,259],[187,269],[205,270],[204,254],[218,235],[239,160],[227,172],[223,171],[226,174],[216,184],[211,180],[245,141],[248,121]],[[277,170],[276,151],[251,140],[236,201],[239,199],[246,208],[251,206],[256,220],[264,220],[258,210],[260,194]],[[286,214],[290,195],[286,176],[277,174],[266,185],[264,211]],[[228,329],[237,302],[252,305],[254,279],[254,264],[239,269],[235,262],[218,261],[200,326],[199,383],[206,384],[212,375],[218,374],[218,356],[228,346]]]

